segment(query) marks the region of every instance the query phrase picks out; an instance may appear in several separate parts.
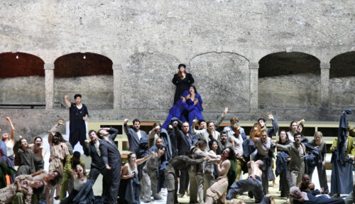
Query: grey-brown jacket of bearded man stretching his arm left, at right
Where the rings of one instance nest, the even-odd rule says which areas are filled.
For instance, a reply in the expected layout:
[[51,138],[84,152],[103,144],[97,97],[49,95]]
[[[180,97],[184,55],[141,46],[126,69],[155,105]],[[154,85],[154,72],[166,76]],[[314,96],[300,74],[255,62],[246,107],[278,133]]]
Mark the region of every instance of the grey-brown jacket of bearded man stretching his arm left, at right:
[[305,144],[302,144],[303,152],[300,154],[298,151],[295,142],[290,143],[288,145],[278,144],[278,149],[286,150],[290,154],[290,166],[288,166],[288,170],[297,171],[299,173],[305,172],[305,156],[306,156],[306,147]]

